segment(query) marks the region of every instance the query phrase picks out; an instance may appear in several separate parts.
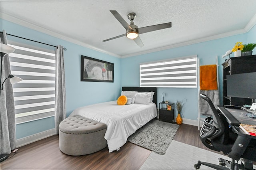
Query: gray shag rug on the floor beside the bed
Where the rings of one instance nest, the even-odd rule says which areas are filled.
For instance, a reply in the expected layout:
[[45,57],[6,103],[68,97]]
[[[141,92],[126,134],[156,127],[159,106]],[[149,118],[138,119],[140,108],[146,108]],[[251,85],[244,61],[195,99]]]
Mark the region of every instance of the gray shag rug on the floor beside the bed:
[[153,119],[129,136],[127,141],[164,155],[179,127]]

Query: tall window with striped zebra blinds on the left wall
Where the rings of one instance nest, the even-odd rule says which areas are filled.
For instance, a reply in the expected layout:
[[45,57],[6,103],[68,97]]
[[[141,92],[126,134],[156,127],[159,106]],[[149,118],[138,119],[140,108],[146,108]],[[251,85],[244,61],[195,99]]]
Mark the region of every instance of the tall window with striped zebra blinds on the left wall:
[[13,85],[16,124],[54,116],[55,51],[11,46],[11,72],[23,79]]

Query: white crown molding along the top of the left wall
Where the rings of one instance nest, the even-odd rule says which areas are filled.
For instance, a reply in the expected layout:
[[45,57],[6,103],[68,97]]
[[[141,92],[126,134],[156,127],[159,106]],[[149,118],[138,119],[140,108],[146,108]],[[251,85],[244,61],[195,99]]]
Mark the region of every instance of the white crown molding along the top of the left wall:
[[68,42],[71,42],[71,43],[75,43],[75,44],[77,44],[77,45],[81,45],[81,46],[86,47],[86,48],[89,48],[89,49],[93,49],[93,50],[95,50],[95,51],[99,51],[99,52],[102,52],[102,53],[106,53],[106,54],[108,54],[108,55],[112,55],[112,56],[114,56],[114,57],[121,58],[120,55],[117,55],[117,54],[114,54],[114,53],[110,53],[109,51],[104,51],[104,50],[102,50],[102,49],[96,48],[96,47],[94,47],[94,46],[92,46],[92,45],[89,45],[89,44],[87,44],[87,43],[80,42],[80,41],[78,41],[78,40],[74,40],[74,39],[72,39],[72,38],[68,38],[68,37],[66,37],[66,36],[63,36],[63,35],[58,34],[58,33],[56,33],[56,32],[52,32],[52,31],[50,31],[50,30],[48,30],[48,29],[46,29],[46,28],[42,28],[42,27],[40,27],[40,26],[37,26],[37,25],[32,24],[32,23],[30,23],[30,22],[21,20],[21,19],[19,19],[19,18],[16,18],[16,17],[11,16],[11,15],[9,15],[9,14],[6,14],[6,13],[4,13],[4,12],[1,12],[1,13],[0,13],[0,18],[2,18],[2,19],[4,19],[4,20],[7,20],[7,21],[10,21],[10,22],[13,22],[13,23],[15,23],[15,24],[19,24],[19,25],[21,25],[21,26],[24,26],[24,27],[33,29],[33,30],[36,30],[36,31],[42,32],[42,33],[44,33],[44,34],[48,34],[48,35],[50,35],[50,36],[53,36],[53,37],[56,37],[56,38],[59,38],[59,39],[62,39],[62,40],[65,40],[65,41],[68,41]]

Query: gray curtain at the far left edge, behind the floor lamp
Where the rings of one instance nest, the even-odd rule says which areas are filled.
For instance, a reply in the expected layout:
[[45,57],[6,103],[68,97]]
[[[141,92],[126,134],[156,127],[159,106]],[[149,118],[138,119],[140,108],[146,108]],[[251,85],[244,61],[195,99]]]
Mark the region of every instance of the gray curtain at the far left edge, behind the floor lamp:
[[[7,44],[6,32],[0,33],[1,43]],[[2,83],[11,74],[9,55],[5,55],[2,65]],[[0,154],[10,154],[16,148],[15,109],[10,79],[4,83],[0,101]]]

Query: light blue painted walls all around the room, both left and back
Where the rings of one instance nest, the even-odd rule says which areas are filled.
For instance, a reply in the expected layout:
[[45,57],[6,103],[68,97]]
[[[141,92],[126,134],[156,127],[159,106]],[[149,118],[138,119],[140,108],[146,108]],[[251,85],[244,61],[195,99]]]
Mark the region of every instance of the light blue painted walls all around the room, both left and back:
[[[198,55],[200,65],[208,65],[215,63],[215,57],[218,56],[219,85],[220,96],[222,96],[222,65],[227,59],[221,57],[229,49],[232,49],[236,42],[256,42],[256,26],[247,34],[240,34],[228,38],[221,38],[208,42],[186,45],[154,53],[138,55],[128,58],[113,57],[92,49],[70,43],[41,32],[31,30],[29,28],[0,20],[0,30],[6,30],[8,34],[21,36],[24,38],[36,40],[39,42],[49,43],[52,45],[62,45],[67,48],[64,51],[64,65],[66,77],[66,103],[67,116],[76,109],[84,105],[93,103],[101,103],[105,101],[116,100],[120,95],[122,86],[139,86],[139,64],[149,61],[158,61],[168,58],[183,57],[188,55]],[[8,40],[14,40],[8,36]],[[18,40],[20,42],[31,43],[26,40]],[[33,43],[34,44],[34,43]],[[38,44],[42,47],[41,44]],[[44,46],[47,47],[47,46]],[[255,54],[255,52],[254,52]],[[81,55],[93,57],[114,63],[114,83],[98,83],[98,82],[81,82],[80,81],[80,62]],[[230,55],[234,57],[234,53]],[[185,119],[197,120],[198,117],[198,89],[178,89],[178,88],[158,88],[158,101],[162,101],[160,94],[165,92],[167,100],[176,102],[177,100],[186,99],[183,116]],[[222,103],[222,98],[221,103]],[[175,111],[175,115],[177,115]],[[22,138],[44,130],[54,128],[54,118],[46,118],[30,123],[23,123],[16,126],[16,138]]]

